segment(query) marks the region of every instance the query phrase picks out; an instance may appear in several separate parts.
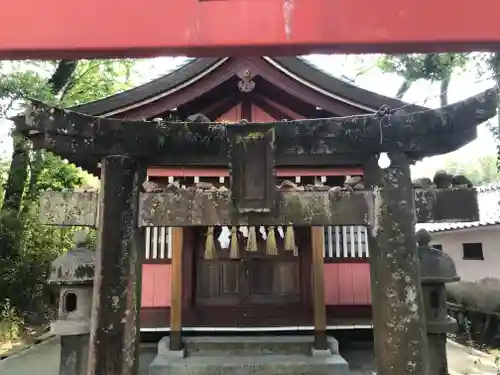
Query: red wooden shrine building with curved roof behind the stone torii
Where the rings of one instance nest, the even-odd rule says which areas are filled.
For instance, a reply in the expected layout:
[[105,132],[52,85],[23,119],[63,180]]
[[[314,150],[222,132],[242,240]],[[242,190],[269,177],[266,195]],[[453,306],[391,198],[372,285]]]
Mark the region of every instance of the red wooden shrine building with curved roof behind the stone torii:
[[[199,58],[150,83],[75,111],[96,116],[128,119],[178,118],[203,114],[212,121],[268,122],[306,118],[343,117],[375,113],[383,105],[408,105],[363,90],[334,78],[296,57]],[[279,137],[279,134],[277,135]],[[219,157],[179,153],[176,158],[150,165],[148,179],[180,185],[212,183],[229,187],[227,161]],[[97,172],[99,160],[71,159]],[[353,155],[331,158],[289,156],[277,160],[278,184],[343,185],[362,176],[362,160]],[[355,181],[355,180],[354,180]],[[230,228],[215,228],[217,250],[213,259],[204,256],[207,228],[183,230],[183,325],[190,328],[311,327],[311,235],[297,230],[298,256],[283,251],[284,229],[277,231],[278,256],[265,251],[266,234],[257,231],[259,251],[242,251],[230,257]],[[246,234],[245,229],[243,229]],[[240,248],[245,248],[245,238]],[[142,270],[141,330],[168,330],[171,302],[172,228],[146,228]],[[222,247],[225,247],[221,249]],[[325,228],[325,303],[329,326],[371,327],[369,246],[360,226]]]

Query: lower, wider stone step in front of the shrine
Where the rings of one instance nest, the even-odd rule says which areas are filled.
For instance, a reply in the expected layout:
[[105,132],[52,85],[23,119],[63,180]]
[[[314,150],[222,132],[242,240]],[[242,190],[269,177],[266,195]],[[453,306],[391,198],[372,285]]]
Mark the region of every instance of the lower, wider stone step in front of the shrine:
[[271,354],[255,356],[158,355],[149,375],[347,375],[349,365],[339,355]]

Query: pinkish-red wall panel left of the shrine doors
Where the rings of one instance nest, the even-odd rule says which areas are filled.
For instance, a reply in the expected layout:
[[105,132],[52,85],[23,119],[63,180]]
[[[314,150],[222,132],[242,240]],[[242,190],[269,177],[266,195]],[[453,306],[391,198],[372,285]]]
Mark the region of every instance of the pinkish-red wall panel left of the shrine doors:
[[170,307],[170,264],[142,265],[142,307]]

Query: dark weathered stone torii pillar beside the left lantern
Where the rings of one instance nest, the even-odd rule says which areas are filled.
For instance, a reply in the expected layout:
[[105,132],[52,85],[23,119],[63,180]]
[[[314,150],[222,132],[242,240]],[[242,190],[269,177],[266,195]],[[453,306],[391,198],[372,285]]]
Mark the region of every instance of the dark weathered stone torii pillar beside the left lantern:
[[141,167],[127,156],[102,160],[89,375],[135,375],[138,365]]

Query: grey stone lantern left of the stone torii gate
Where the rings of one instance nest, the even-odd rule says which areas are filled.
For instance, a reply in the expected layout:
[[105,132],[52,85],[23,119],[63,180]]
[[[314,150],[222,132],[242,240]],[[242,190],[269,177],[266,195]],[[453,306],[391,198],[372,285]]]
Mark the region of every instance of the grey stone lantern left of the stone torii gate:
[[59,287],[58,319],[51,332],[61,336],[60,375],[85,375],[92,310],[95,253],[87,234],[75,234],[75,247],[52,263],[49,283]]

